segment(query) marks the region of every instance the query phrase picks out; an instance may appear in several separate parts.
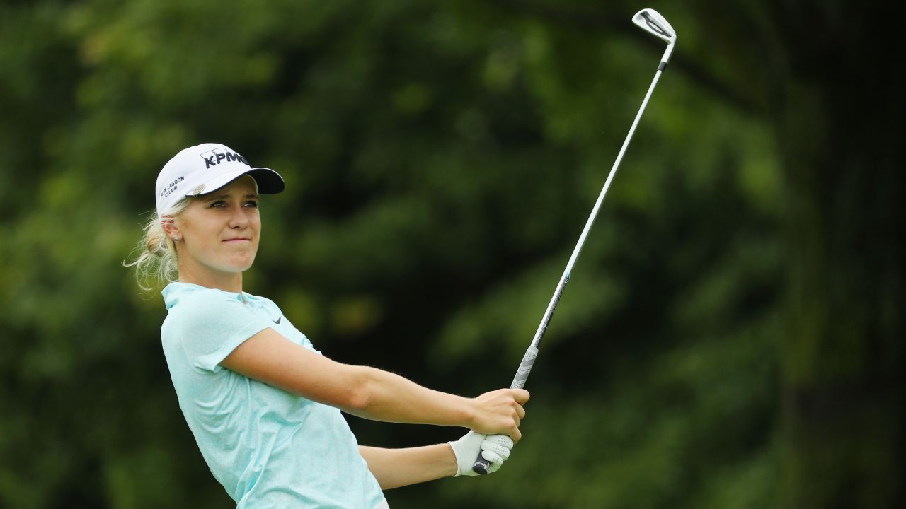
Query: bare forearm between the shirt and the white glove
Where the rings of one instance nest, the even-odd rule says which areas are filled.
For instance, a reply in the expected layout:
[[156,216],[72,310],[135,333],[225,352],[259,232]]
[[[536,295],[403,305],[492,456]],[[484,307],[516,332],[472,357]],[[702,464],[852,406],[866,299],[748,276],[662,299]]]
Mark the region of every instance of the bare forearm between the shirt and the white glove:
[[385,490],[449,477],[457,472],[456,456],[448,444],[405,449],[359,446],[359,452]]

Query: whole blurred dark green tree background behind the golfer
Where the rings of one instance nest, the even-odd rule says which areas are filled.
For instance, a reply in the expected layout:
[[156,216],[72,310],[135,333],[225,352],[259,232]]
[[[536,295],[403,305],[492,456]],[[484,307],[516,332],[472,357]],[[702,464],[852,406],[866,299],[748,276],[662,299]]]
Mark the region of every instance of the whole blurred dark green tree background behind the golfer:
[[[246,290],[325,354],[506,386],[663,50],[631,26],[643,5],[599,4],[0,4],[0,507],[231,503],[179,413],[160,298],[120,266],[159,168],[199,142],[286,178]],[[650,6],[675,60],[545,337],[525,440],[394,508],[897,500],[902,178],[893,130],[844,142],[892,117],[857,119],[846,91],[884,89],[828,46],[874,42],[871,5]],[[459,434],[351,425],[382,447]]]

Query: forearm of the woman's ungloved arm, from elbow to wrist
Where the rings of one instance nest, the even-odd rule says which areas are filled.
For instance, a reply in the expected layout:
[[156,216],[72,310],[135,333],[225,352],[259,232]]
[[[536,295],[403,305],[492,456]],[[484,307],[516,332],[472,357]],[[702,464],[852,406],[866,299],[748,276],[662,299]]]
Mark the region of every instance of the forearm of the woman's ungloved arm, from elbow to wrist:
[[352,415],[410,424],[472,427],[475,408],[471,399],[427,389],[393,373],[361,368],[360,396],[351,408]]

